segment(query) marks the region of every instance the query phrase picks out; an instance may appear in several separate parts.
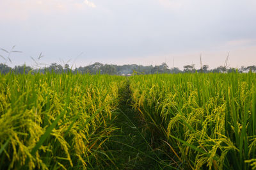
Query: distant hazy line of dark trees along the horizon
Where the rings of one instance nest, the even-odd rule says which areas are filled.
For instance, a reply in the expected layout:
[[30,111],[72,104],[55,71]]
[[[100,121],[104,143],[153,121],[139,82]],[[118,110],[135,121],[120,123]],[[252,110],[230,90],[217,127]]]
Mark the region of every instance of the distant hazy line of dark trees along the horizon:
[[71,68],[68,64],[64,66],[58,65],[57,63],[52,63],[49,66],[45,66],[42,68],[32,68],[31,66],[20,65],[14,66],[13,68],[4,64],[0,63],[0,72],[1,73],[29,73],[29,72],[56,72],[56,73],[63,73],[63,72],[73,72],[73,73],[101,73],[101,74],[109,74],[109,75],[130,75],[132,73],[138,74],[153,74],[153,73],[209,73],[209,72],[218,72],[218,73],[228,73],[234,72],[237,70],[238,72],[256,72],[256,66],[241,66],[241,68],[227,68],[227,66],[218,66],[214,69],[209,69],[208,65],[201,66],[200,69],[196,69],[195,65],[185,65],[183,66],[183,70],[180,70],[177,67],[169,68],[166,63],[162,63],[161,65],[156,66],[143,66],[143,65],[104,65],[102,63],[93,63],[92,65],[88,66],[80,66],[79,68]]

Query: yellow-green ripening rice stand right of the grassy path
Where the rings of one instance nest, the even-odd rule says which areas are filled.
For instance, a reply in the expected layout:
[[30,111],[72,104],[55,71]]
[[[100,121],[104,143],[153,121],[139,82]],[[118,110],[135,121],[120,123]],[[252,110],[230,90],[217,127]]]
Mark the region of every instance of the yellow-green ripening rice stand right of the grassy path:
[[[132,106],[184,168],[255,168],[255,73],[131,78]],[[154,143],[153,142],[153,143]]]

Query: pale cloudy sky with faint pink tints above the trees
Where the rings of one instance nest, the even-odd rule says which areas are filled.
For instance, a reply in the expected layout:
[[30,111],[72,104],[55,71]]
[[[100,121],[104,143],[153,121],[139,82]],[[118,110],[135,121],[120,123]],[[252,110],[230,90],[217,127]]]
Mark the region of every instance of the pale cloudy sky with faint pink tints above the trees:
[[255,21],[255,0],[1,0],[0,49],[22,51],[10,66],[237,68],[256,65]]

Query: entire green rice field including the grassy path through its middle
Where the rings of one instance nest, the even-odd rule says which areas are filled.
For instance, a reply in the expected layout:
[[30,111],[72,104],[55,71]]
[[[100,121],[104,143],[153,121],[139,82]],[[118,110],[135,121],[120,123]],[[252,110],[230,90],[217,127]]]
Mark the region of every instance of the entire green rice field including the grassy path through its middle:
[[0,169],[256,169],[256,74],[0,75]]

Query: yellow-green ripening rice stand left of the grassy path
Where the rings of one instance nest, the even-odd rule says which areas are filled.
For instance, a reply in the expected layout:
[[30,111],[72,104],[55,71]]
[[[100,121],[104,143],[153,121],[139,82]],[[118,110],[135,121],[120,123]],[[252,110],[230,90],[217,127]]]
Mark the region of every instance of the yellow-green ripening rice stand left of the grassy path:
[[0,169],[88,169],[115,164],[104,143],[123,77],[0,75]]

